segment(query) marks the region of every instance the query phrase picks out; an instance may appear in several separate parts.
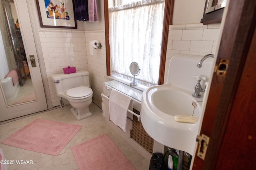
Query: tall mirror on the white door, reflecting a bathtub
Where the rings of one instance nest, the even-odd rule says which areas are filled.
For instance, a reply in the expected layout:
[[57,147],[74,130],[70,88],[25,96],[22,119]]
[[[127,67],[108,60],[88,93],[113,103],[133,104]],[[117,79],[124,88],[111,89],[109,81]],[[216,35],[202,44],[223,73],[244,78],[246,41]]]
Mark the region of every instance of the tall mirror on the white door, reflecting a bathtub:
[[0,80],[8,106],[36,100],[13,0],[0,3]]

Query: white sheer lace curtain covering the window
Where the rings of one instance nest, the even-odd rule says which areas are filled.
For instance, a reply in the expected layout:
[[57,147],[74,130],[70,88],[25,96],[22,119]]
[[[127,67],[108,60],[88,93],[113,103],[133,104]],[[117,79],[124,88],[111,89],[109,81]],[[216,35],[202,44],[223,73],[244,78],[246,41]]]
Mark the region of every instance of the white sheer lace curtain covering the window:
[[158,84],[164,0],[143,0],[109,8],[111,74],[132,80],[136,61],[140,84]]

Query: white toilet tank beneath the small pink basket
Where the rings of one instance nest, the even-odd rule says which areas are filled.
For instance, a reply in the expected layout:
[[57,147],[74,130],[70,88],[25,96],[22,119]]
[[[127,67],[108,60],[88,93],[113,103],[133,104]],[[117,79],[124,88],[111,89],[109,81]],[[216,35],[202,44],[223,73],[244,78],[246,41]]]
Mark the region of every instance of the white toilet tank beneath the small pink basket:
[[89,72],[86,70],[77,70],[70,74],[52,74],[52,80],[54,82],[59,81],[59,83],[54,83],[57,93],[79,86],[90,87]]

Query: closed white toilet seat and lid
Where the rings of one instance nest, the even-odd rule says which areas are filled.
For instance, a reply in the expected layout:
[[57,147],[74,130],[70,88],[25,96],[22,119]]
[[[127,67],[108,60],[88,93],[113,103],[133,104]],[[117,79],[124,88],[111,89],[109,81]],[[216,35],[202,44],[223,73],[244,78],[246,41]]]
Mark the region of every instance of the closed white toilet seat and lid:
[[68,98],[76,99],[76,100],[88,98],[88,96],[90,96],[91,94],[92,94],[92,89],[86,86],[70,88],[67,90],[67,93],[66,93]]

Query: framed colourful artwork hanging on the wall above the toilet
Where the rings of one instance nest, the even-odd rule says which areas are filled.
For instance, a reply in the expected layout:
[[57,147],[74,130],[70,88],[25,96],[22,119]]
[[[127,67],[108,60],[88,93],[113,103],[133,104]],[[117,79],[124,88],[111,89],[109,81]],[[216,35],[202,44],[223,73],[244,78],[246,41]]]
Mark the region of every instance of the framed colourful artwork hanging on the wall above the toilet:
[[76,29],[74,0],[36,0],[41,27]]

